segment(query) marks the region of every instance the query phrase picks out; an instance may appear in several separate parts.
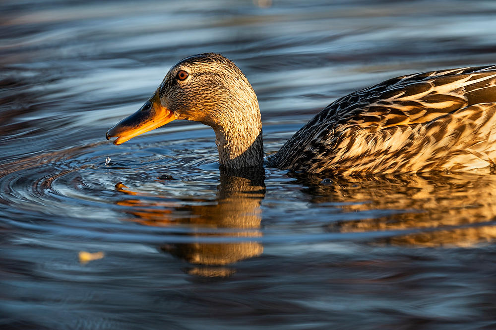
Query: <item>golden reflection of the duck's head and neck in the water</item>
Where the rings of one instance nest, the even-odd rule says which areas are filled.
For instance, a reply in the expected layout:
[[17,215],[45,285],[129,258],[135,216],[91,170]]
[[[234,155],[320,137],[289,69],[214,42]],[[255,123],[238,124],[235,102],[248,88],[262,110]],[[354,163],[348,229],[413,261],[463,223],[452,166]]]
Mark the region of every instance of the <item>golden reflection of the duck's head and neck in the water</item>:
[[[197,231],[195,236],[239,236],[259,237],[261,232],[260,202],[265,196],[265,173],[263,168],[244,170],[221,169],[220,184],[215,200],[185,200],[187,205],[160,207],[158,202],[129,198],[118,202],[119,205],[131,206],[129,213],[133,221],[153,226],[187,224]],[[117,190],[127,195],[137,195],[122,183]],[[191,203],[194,202],[194,203]],[[193,205],[191,205],[193,204]],[[184,214],[179,217],[178,214]],[[219,230],[217,230],[219,229]],[[235,271],[224,267],[240,260],[258,256],[263,246],[257,241],[234,241],[228,243],[181,243],[166,244],[161,250],[187,262],[197,265],[187,270],[200,276],[228,276]]]

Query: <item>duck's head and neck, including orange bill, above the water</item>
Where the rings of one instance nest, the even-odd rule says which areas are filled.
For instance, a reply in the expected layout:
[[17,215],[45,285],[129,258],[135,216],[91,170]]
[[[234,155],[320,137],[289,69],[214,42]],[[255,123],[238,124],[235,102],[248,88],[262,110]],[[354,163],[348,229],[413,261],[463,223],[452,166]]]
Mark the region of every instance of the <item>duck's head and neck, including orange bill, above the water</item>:
[[175,119],[211,126],[222,165],[239,168],[262,164],[260,110],[255,92],[243,72],[226,57],[206,53],[181,60],[148,101],[109,129],[106,137],[117,137],[114,144],[120,145]]

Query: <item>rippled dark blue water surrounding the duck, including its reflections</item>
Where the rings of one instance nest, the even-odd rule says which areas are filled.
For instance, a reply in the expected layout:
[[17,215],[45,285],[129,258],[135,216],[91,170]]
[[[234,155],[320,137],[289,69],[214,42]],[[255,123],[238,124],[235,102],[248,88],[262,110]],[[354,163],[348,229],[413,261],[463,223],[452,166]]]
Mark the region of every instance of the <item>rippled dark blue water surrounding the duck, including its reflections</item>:
[[2,1],[0,328],[496,328],[493,174],[221,173],[194,122],[105,140],[202,52],[248,76],[266,153],[359,88],[496,62],[494,1],[327,2]]

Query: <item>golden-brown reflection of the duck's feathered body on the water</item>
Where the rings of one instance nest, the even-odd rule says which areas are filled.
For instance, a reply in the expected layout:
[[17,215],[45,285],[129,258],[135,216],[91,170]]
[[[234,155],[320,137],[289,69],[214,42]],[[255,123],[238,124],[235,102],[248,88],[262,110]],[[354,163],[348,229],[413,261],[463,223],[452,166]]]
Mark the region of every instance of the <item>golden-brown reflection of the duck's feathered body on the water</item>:
[[397,210],[392,215],[342,220],[330,231],[407,230],[382,243],[463,246],[496,238],[496,175],[474,173],[360,178],[299,177],[315,203],[343,202],[345,212]]

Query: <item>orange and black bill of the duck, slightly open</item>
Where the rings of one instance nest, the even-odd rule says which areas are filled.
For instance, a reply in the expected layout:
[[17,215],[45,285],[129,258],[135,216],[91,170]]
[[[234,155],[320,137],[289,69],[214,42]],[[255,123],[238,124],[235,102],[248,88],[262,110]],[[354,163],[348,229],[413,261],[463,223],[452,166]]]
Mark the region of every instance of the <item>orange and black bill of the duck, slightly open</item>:
[[106,137],[107,140],[117,137],[114,144],[120,145],[139,134],[163,126],[176,118],[174,112],[160,104],[157,90],[139,110],[109,129]]

